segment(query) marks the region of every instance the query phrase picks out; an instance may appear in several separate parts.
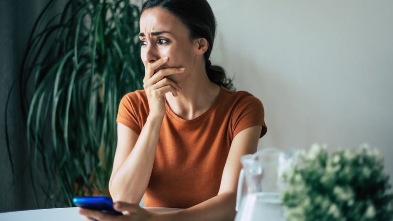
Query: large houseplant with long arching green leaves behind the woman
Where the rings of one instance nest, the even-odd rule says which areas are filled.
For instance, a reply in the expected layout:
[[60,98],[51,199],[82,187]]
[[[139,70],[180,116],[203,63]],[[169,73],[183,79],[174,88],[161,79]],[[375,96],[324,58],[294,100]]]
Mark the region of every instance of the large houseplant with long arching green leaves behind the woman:
[[142,87],[144,73],[138,6],[68,0],[48,18],[55,3],[50,0],[35,22],[19,78],[38,207],[38,190],[46,195],[44,207],[108,194],[118,103]]

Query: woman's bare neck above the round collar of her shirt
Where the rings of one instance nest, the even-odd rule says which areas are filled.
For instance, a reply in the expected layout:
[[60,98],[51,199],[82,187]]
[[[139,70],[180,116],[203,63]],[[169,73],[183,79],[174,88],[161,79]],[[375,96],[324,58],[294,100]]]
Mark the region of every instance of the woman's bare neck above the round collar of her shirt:
[[165,95],[170,109],[180,118],[191,120],[206,112],[220,93],[220,86],[211,82],[203,68],[193,71],[179,83],[183,91],[177,97]]

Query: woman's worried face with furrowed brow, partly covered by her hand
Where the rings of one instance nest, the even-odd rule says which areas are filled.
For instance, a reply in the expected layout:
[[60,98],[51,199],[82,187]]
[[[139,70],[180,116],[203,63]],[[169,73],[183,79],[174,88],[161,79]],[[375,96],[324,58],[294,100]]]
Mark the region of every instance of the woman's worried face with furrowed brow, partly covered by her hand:
[[168,76],[181,82],[194,68],[196,44],[190,40],[187,27],[170,12],[160,8],[149,8],[140,16],[140,58],[144,66],[168,56],[161,68],[184,67],[180,74]]

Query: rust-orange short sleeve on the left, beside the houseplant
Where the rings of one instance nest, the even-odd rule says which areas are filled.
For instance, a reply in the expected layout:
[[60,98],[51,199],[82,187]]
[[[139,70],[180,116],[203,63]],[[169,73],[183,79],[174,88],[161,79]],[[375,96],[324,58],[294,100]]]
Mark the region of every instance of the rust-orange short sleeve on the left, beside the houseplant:
[[117,123],[133,129],[138,135],[141,131],[139,116],[136,114],[136,108],[139,106],[140,99],[135,92],[124,95],[120,100],[119,109],[117,112]]

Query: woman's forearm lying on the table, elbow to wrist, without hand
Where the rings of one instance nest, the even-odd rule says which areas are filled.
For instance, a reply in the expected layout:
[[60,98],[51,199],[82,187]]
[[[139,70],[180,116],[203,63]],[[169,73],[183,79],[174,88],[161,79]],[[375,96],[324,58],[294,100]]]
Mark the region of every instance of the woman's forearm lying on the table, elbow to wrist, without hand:
[[236,192],[223,192],[193,207],[163,214],[162,221],[233,221],[236,215]]

